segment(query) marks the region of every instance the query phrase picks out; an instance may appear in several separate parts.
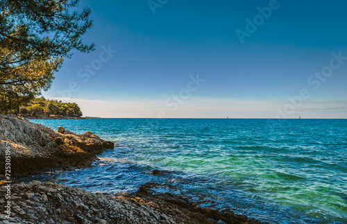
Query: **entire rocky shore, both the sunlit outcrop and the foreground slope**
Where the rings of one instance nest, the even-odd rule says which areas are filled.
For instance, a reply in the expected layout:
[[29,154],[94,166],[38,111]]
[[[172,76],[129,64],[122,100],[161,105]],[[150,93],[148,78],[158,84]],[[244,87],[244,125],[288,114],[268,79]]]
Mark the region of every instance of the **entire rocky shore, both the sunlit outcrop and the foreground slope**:
[[0,178],[0,224],[260,223],[229,210],[201,208],[189,201],[189,196],[155,192],[168,189],[169,185],[148,183],[135,194],[110,195],[37,180],[16,183],[13,178],[50,169],[85,167],[97,159],[96,153],[113,148],[113,142],[90,131],[83,135],[62,127],[53,131],[25,118],[0,115],[0,172],[6,178],[5,165],[10,154],[11,176],[11,181]]

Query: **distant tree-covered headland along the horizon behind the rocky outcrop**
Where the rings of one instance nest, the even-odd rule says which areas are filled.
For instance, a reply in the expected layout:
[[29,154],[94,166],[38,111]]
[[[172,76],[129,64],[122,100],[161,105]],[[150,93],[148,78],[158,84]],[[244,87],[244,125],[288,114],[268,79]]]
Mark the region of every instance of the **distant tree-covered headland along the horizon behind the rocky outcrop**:
[[[16,111],[12,111],[16,113]],[[35,98],[26,106],[19,107],[19,115],[24,117],[74,117],[82,116],[82,111],[76,103],[66,103],[61,100],[46,100]]]

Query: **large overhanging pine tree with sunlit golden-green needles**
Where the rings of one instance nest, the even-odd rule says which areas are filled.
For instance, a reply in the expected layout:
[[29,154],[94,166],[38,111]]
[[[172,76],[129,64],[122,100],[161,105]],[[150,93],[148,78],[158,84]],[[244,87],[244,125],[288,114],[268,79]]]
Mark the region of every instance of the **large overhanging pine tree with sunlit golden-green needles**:
[[71,50],[88,53],[82,35],[92,26],[78,0],[0,1],[0,113],[19,111],[51,86]]

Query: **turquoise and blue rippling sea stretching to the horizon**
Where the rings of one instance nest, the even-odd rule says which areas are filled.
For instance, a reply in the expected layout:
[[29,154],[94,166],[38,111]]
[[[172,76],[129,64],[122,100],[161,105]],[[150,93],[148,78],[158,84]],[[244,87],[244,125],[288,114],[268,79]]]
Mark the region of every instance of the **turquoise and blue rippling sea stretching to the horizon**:
[[[31,120],[92,131],[117,147],[85,169],[48,172],[65,185],[135,192],[149,182],[197,192],[269,223],[347,223],[347,120]],[[159,169],[162,175],[153,176]]]

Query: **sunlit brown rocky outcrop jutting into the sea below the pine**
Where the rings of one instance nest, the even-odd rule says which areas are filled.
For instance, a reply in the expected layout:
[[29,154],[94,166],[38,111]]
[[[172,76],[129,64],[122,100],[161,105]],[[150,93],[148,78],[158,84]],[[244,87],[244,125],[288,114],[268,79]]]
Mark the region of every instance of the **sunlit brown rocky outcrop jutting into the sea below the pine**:
[[25,176],[56,168],[85,167],[95,153],[113,149],[114,143],[88,131],[77,135],[53,131],[15,115],[0,115],[0,174],[5,172],[6,148],[10,149],[11,176]]

